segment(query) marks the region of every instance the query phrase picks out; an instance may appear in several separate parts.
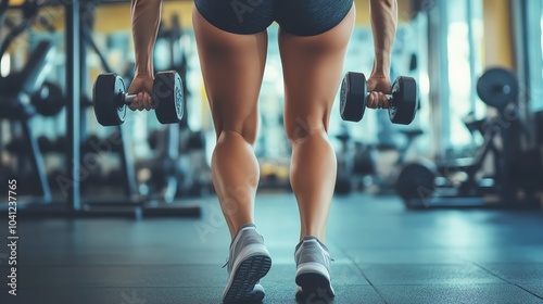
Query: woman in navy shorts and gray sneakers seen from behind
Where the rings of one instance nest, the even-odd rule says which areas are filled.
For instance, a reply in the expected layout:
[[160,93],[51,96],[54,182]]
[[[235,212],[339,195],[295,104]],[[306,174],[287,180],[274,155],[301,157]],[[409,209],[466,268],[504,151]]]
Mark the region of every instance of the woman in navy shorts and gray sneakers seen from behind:
[[[388,107],[390,54],[396,29],[395,0],[371,0],[375,62],[368,106]],[[152,51],[161,0],[132,0],[138,93],[131,110],[152,109]],[[254,226],[258,163],[253,153],[267,51],[266,28],[279,24],[285,76],[285,129],[292,147],[290,181],[301,220],[295,246],[296,297],[333,296],[330,254],[324,244],[336,181],[328,141],[330,109],[338,91],[355,11],[353,0],[195,0],[193,26],[217,143],[213,183],[232,238],[224,302],[264,297],[260,279],[272,258]]]

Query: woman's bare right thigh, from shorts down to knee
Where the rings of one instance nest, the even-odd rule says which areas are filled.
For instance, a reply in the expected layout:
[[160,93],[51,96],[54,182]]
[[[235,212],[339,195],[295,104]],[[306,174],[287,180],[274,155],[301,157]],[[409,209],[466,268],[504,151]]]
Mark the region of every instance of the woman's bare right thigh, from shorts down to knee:
[[328,130],[354,18],[354,5],[351,5],[339,24],[320,35],[300,37],[281,27],[279,48],[285,77],[285,127],[291,142],[307,132]]

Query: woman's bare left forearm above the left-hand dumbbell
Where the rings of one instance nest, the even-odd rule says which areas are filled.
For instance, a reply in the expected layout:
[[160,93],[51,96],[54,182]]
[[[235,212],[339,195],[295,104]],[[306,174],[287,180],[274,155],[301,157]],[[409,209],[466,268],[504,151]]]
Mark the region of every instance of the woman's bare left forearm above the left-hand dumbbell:
[[131,0],[136,76],[153,75],[153,48],[161,22],[162,0]]

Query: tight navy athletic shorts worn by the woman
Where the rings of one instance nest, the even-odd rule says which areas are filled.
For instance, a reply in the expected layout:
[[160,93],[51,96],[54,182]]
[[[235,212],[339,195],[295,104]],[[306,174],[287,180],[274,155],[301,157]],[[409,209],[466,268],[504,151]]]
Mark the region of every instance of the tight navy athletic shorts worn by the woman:
[[274,21],[296,36],[323,34],[349,13],[353,0],[194,0],[202,16],[233,34],[255,34]]

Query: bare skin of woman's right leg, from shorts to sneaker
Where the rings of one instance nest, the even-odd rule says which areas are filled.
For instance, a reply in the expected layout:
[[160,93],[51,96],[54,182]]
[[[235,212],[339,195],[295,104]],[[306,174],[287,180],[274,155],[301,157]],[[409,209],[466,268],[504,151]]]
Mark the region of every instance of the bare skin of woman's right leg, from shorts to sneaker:
[[353,5],[340,24],[324,34],[299,37],[279,33],[285,128],[292,145],[290,182],[300,210],[301,240],[313,236],[325,241],[337,174],[328,122],[354,20]]

